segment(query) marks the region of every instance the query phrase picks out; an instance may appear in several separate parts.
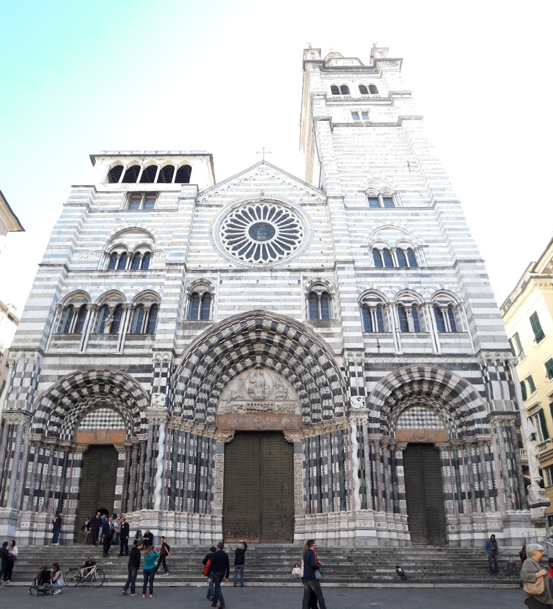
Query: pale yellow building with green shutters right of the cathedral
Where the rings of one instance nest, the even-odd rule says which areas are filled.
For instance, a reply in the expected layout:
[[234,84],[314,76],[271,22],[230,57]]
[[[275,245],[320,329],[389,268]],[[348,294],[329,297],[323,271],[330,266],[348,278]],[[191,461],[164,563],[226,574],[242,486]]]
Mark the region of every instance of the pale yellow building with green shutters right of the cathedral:
[[[529,264],[501,314],[518,358],[526,412],[536,429],[545,494],[553,499],[553,239]],[[553,505],[547,516],[552,525]]]

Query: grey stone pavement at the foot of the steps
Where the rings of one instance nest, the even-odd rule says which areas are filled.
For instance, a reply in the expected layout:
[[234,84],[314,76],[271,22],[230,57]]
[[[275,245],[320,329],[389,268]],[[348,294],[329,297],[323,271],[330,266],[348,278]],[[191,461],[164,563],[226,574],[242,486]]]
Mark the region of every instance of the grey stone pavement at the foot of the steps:
[[[154,588],[154,598],[124,597],[120,588],[64,588],[55,597],[30,597],[27,588],[6,586],[0,604],[17,609],[125,609],[127,606],[163,609],[209,609],[207,588]],[[517,588],[323,588],[328,609],[525,609],[525,595]],[[140,592],[142,590],[140,589]],[[301,609],[298,588],[233,588],[225,586],[226,609]],[[155,603],[155,604],[154,604]]]

